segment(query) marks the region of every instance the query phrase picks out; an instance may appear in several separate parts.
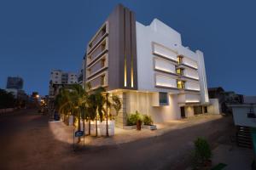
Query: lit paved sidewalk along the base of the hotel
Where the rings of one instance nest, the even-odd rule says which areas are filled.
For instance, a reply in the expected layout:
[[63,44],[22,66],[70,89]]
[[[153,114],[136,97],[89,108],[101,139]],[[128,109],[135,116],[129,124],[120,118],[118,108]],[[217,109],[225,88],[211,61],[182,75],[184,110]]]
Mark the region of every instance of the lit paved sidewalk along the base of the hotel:
[[[222,118],[220,115],[201,115],[193,116],[182,120],[168,121],[165,123],[156,123],[157,130],[151,131],[148,129],[137,130],[125,130],[119,127],[115,127],[115,134],[113,137],[90,137],[85,136],[85,144],[90,146],[102,146],[102,145],[113,145],[113,144],[124,144],[132,142],[138,139],[147,139],[157,137],[165,133],[183,129],[185,127],[192,127],[205,122],[211,122]],[[61,142],[73,144],[73,128],[68,127],[63,122],[49,122],[49,128],[54,134],[55,139]],[[83,144],[83,138],[81,141]]]

